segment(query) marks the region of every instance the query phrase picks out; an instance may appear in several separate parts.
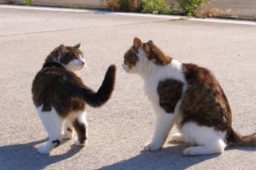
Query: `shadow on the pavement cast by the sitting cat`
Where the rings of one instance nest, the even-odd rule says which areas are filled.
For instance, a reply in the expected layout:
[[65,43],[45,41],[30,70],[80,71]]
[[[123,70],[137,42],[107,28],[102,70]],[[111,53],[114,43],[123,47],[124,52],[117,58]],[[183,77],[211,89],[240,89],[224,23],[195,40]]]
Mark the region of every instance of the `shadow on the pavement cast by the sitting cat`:
[[213,159],[219,156],[182,156],[182,150],[186,148],[182,144],[162,148],[156,152],[142,151],[138,156],[134,156],[128,160],[122,160],[116,164],[100,168],[106,169],[175,169],[182,170],[199,164],[205,160]]

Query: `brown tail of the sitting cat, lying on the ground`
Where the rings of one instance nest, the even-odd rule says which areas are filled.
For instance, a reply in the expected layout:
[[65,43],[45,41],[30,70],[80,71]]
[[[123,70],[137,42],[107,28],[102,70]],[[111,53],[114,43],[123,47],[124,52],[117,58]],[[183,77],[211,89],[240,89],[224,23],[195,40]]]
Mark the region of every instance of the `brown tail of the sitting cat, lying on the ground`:
[[248,136],[242,136],[231,128],[227,140],[231,146],[256,146],[256,132]]

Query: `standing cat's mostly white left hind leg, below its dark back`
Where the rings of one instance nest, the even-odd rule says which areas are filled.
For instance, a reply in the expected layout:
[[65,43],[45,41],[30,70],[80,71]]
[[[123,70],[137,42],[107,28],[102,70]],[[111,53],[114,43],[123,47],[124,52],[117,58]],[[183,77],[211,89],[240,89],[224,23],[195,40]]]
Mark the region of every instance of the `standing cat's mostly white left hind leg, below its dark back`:
[[43,112],[42,106],[38,107],[38,115],[48,133],[49,140],[47,143],[38,148],[41,154],[50,154],[62,141],[62,117],[59,117],[57,111],[52,108],[49,112]]

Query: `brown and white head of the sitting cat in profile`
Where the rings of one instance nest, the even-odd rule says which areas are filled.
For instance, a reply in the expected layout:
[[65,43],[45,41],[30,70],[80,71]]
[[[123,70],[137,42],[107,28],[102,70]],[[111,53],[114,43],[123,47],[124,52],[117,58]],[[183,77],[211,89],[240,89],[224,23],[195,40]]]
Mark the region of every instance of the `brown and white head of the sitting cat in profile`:
[[168,65],[171,60],[151,40],[142,42],[139,38],[134,38],[134,45],[124,55],[122,69],[127,73],[142,73],[152,65]]

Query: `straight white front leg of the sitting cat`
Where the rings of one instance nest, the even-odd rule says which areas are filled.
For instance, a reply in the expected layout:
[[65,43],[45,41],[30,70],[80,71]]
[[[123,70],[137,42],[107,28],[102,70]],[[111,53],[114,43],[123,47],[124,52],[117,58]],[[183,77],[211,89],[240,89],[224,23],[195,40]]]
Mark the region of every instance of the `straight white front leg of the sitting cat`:
[[162,145],[165,143],[166,138],[169,135],[170,129],[174,125],[174,114],[173,113],[158,113],[155,126],[154,126],[154,135],[152,140],[144,145],[146,151],[155,151],[159,148],[162,148]]

